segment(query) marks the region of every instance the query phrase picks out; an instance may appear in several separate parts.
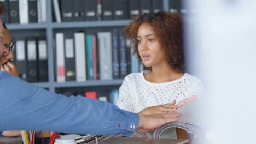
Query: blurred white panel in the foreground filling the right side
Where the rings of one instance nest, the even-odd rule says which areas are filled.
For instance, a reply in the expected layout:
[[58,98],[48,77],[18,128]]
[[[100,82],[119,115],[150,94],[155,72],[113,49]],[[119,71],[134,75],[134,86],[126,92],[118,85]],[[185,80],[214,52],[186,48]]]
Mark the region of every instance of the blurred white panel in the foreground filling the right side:
[[[188,71],[205,82],[215,143],[255,143],[256,1],[187,1]],[[210,117],[211,116],[211,117]]]

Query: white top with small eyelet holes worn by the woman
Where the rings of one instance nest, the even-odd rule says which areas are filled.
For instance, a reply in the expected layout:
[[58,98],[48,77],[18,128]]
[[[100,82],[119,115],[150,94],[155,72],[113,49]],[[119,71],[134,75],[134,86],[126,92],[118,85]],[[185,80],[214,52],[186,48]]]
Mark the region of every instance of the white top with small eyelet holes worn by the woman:
[[182,101],[193,95],[201,97],[202,82],[196,77],[185,73],[181,78],[164,83],[152,83],[141,73],[132,73],[125,77],[119,88],[117,106],[130,112],[140,112],[149,106],[167,104],[173,101]]

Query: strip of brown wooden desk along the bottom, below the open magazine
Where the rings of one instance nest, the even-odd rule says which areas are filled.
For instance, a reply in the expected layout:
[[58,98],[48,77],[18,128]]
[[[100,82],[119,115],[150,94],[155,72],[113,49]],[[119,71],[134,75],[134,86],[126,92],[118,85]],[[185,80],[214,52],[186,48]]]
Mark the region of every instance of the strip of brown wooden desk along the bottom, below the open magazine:
[[181,139],[144,139],[138,137],[112,137],[110,139],[100,141],[99,144],[183,144],[189,142],[188,140],[181,140]]

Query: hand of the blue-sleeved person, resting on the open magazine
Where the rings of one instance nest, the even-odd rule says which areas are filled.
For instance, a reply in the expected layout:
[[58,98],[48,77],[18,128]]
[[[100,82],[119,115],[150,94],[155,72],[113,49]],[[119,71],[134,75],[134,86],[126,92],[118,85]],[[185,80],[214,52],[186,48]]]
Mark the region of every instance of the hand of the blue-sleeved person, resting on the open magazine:
[[155,128],[158,128],[166,123],[179,121],[178,112],[152,115],[143,115],[142,113],[139,113],[139,117],[140,119],[137,129],[142,133],[153,131]]

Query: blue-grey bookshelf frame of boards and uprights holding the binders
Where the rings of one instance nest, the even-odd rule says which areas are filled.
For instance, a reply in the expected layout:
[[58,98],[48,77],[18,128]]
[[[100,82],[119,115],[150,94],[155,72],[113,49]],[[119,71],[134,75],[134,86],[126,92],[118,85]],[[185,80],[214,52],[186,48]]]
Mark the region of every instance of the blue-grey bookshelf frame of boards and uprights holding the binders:
[[[168,11],[169,0],[163,1],[163,10]],[[79,22],[53,22],[53,10],[52,0],[46,0],[46,15],[47,21],[44,23],[28,23],[28,24],[7,24],[10,32],[24,33],[24,31],[43,31],[46,35],[47,47],[48,47],[48,82],[37,82],[33,85],[47,88],[51,92],[55,92],[57,88],[70,88],[70,87],[98,87],[98,86],[120,86],[123,79],[114,80],[96,80],[96,81],[85,81],[85,82],[64,82],[58,83],[55,81],[55,58],[54,58],[54,31],[59,29],[69,28],[95,28],[95,27],[124,27],[131,20],[102,20],[102,21],[79,21]]]

